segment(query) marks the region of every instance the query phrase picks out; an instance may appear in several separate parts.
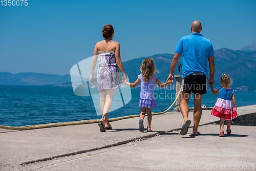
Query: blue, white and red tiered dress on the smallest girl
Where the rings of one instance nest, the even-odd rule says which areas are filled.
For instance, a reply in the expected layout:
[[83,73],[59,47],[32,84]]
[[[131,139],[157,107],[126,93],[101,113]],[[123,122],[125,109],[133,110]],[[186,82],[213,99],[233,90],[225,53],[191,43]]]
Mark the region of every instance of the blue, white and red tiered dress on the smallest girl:
[[231,120],[238,116],[236,108],[232,103],[233,90],[221,88],[217,102],[212,108],[211,115],[222,119]]

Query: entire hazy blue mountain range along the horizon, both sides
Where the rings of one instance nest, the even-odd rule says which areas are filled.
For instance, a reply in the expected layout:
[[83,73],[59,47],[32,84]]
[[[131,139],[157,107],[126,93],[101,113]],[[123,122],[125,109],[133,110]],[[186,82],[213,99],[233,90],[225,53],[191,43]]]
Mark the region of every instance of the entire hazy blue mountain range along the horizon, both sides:
[[[172,54],[157,54],[151,57],[155,60],[159,73],[158,79],[165,82],[169,74]],[[129,76],[130,82],[134,82],[140,74],[139,67],[146,57],[140,57],[123,62],[125,73]],[[179,62],[182,65],[182,57]],[[243,91],[256,91],[256,41],[245,45],[239,50],[219,49],[215,51],[215,86],[220,87],[220,77],[223,73],[233,79],[232,89]],[[175,70],[175,75],[178,69]],[[70,75],[55,75],[41,73],[18,73],[11,74],[0,72],[0,84],[8,85],[46,85],[62,84],[68,85],[71,82]]]

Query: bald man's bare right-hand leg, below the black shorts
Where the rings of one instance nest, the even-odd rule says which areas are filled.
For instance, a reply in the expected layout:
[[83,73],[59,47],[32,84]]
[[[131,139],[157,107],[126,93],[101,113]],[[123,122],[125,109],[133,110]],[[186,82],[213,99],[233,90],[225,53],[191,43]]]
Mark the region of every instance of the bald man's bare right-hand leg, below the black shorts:
[[194,127],[193,134],[198,135],[198,125],[202,116],[202,94],[194,94]]

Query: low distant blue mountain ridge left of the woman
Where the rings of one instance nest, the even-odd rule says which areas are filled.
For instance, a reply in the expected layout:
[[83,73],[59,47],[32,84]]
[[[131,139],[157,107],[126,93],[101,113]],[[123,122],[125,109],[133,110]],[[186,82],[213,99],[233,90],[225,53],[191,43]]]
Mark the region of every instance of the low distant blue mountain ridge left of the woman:
[[18,73],[11,74],[8,72],[0,72],[0,84],[6,85],[47,85],[62,84],[71,82],[70,75],[55,75],[42,73]]

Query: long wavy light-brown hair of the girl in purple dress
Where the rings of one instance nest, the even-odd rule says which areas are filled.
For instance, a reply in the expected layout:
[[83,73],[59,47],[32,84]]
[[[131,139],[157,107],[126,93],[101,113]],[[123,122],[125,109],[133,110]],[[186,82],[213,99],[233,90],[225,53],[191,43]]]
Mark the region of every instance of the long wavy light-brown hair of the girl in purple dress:
[[152,58],[145,58],[140,66],[140,71],[142,74],[142,79],[145,82],[148,82],[148,80],[151,77],[151,80],[153,80],[153,75],[158,72],[156,67],[155,67],[155,62],[154,59]]

